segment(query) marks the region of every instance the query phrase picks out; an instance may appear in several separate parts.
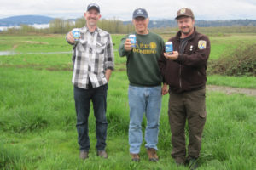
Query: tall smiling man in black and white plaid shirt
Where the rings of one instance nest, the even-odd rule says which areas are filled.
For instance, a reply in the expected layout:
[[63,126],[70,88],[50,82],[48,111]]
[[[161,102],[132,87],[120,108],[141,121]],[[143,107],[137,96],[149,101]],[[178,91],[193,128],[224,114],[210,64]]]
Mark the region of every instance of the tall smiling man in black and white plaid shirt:
[[74,41],[72,31],[67,42],[73,44],[73,92],[77,112],[80,158],[88,158],[90,139],[88,116],[90,100],[96,117],[97,155],[108,158],[105,150],[108,122],[106,118],[108,81],[113,71],[113,43],[107,31],[96,26],[101,18],[100,7],[90,3],[84,13],[86,26],[80,28],[80,38]]

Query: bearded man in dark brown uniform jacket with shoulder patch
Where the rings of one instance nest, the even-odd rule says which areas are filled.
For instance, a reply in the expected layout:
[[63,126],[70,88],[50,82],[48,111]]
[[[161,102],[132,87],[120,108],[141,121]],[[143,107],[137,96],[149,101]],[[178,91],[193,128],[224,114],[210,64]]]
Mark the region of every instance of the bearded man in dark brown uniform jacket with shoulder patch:
[[[164,88],[169,85],[169,122],[172,131],[172,157],[177,165],[189,164],[195,169],[201,150],[201,136],[206,122],[207,59],[210,41],[195,30],[194,14],[189,8],[177,11],[179,31],[168,41],[173,54],[164,53],[160,71]],[[166,91],[166,90],[165,90]],[[188,120],[189,146],[186,158],[184,127]]]

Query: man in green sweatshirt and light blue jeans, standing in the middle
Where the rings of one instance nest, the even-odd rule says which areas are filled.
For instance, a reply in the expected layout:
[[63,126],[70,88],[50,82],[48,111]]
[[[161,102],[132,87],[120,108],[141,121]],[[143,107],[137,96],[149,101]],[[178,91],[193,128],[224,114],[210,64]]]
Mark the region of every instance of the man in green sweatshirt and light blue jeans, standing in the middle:
[[143,115],[147,118],[145,132],[146,149],[149,161],[158,161],[156,155],[161,94],[166,88],[161,89],[162,77],[158,66],[158,59],[164,51],[163,39],[148,31],[148,13],[143,8],[133,12],[132,23],[135,26],[134,34],[137,39],[136,47],[131,47],[129,35],[125,36],[119,46],[119,55],[127,58],[127,75],[129,78],[129,144],[132,161],[140,161],[139,152],[143,142],[142,122]]

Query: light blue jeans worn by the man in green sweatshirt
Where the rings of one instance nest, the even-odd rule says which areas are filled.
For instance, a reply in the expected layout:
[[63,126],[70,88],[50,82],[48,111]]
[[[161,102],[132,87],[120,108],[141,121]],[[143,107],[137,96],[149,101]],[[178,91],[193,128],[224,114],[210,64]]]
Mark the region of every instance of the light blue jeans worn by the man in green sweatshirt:
[[128,96],[130,106],[130,153],[137,154],[140,152],[143,142],[142,122],[144,113],[146,113],[147,118],[145,147],[157,150],[162,99],[161,86],[135,87],[130,85]]

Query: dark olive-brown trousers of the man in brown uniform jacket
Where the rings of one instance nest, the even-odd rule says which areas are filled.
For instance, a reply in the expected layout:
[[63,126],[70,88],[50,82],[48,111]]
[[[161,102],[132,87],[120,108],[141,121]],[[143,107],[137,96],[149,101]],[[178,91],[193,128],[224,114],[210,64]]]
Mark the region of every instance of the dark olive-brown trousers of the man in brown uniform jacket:
[[201,150],[201,136],[206,122],[206,89],[176,94],[170,92],[169,122],[172,131],[172,157],[183,163],[186,156],[184,127],[188,120],[188,156],[198,158]]

